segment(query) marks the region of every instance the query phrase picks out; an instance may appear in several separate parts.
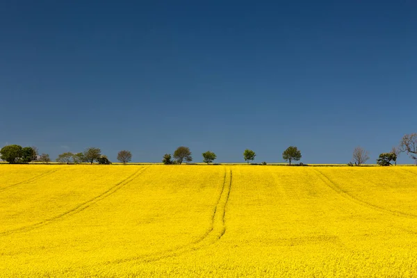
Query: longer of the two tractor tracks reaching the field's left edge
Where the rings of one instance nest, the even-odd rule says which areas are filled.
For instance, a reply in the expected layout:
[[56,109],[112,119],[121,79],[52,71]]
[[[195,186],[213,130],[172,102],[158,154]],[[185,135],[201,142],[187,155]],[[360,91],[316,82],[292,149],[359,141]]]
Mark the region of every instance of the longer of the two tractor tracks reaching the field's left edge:
[[85,209],[89,208],[92,204],[95,204],[95,203],[101,201],[102,199],[105,199],[106,197],[116,193],[117,190],[120,190],[120,188],[123,188],[128,183],[130,183],[131,181],[136,179],[140,174],[142,174],[142,172],[145,172],[145,170],[148,167],[149,166],[141,167],[140,169],[138,169],[136,172],[131,174],[126,179],[116,183],[111,188],[108,188],[108,190],[104,191],[104,193],[101,193],[100,195],[97,195],[97,196],[93,197],[92,199],[89,199],[86,202],[78,204],[77,206],[74,206],[74,208],[71,208],[68,211],[60,213],[59,215],[55,215],[51,218],[47,218],[46,220],[42,220],[42,221],[37,222],[35,224],[30,224],[30,225],[27,225],[27,226],[24,226],[24,227],[20,227],[20,228],[17,228],[17,229],[11,229],[11,230],[8,230],[8,231],[2,231],[2,232],[0,232],[0,236],[8,236],[10,234],[24,233],[24,232],[27,232],[27,231],[32,231],[33,229],[38,229],[38,228],[43,227],[47,224],[50,224],[51,222],[54,222],[56,220],[60,220],[61,218],[65,218],[67,216],[71,216],[71,215],[75,215],[77,213],[81,213],[81,211],[84,211]]

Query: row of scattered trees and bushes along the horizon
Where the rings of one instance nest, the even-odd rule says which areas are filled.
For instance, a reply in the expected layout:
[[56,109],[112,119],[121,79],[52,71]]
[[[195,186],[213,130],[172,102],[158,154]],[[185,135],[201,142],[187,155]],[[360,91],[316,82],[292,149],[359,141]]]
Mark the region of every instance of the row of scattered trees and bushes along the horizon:
[[[405,152],[409,154],[411,158],[416,161],[417,164],[417,133],[406,134],[402,137],[400,145],[398,147],[393,147],[390,152],[384,152],[379,154],[377,158],[377,164],[382,166],[389,166],[395,163],[397,165],[397,158],[400,153]],[[217,155],[214,152],[207,151],[202,153],[204,163],[213,163],[217,158]],[[250,161],[254,161],[256,153],[252,149],[245,149],[243,152],[243,158],[249,164]],[[30,163],[30,162],[42,162],[49,163],[51,159],[49,154],[39,154],[38,148],[31,147],[22,147],[19,145],[7,145],[0,149],[0,158],[3,161],[8,163]],[[301,152],[297,147],[290,146],[283,153],[282,158],[284,161],[288,161],[289,165],[293,161],[300,161],[302,158]],[[369,152],[363,149],[362,147],[356,147],[353,151],[353,162],[347,163],[347,165],[362,165],[369,160]],[[120,163],[129,163],[132,160],[132,154],[128,150],[122,150],[117,153],[117,161]],[[181,164],[183,162],[190,163],[193,161],[193,156],[191,154],[190,148],[181,146],[175,149],[174,153],[165,154],[163,156],[162,162],[165,165],[172,164]],[[99,163],[99,164],[111,164],[111,161],[108,160],[107,156],[101,154],[101,149],[97,147],[88,147],[84,152],[72,153],[64,152],[59,154],[56,158],[58,163]],[[266,165],[265,162],[261,164]],[[300,163],[299,165],[303,165]]]

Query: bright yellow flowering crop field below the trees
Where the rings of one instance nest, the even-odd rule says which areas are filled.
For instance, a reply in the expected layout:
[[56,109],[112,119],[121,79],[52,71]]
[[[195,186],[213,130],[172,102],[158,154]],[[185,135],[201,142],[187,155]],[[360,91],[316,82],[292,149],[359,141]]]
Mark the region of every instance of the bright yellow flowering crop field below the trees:
[[417,277],[417,167],[0,165],[0,277]]

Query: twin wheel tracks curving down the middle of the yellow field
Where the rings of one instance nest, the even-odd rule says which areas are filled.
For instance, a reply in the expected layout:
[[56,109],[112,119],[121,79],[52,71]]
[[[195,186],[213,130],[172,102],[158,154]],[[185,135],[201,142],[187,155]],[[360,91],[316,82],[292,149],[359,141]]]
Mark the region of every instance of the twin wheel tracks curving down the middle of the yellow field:
[[163,252],[143,256],[133,256],[131,258],[119,259],[115,261],[106,261],[105,263],[99,263],[99,265],[108,265],[111,263],[127,263],[129,261],[139,260],[143,263],[150,263],[154,261],[160,261],[162,259],[167,259],[173,256],[179,256],[187,252],[193,252],[216,243],[218,240],[220,240],[220,238],[222,238],[222,236],[224,236],[224,233],[226,232],[224,217],[226,215],[226,206],[229,202],[231,179],[231,170],[230,175],[227,174],[227,171],[224,172],[222,190],[220,192],[218,202],[215,204],[213,215],[211,217],[211,228],[198,240],[195,240],[193,243],[189,243],[187,245],[183,245],[171,250],[166,250]]

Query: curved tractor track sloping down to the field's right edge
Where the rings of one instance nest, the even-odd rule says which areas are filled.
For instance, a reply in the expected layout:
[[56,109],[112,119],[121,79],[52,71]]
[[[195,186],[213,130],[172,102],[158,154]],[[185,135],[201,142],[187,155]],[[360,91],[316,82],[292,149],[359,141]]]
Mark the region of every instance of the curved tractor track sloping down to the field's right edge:
[[403,212],[400,212],[400,211],[391,211],[391,210],[389,210],[387,208],[384,208],[382,206],[377,206],[375,204],[365,202],[365,201],[355,197],[354,195],[351,195],[351,194],[347,193],[345,190],[343,190],[342,188],[337,186],[337,184],[334,181],[329,179],[329,177],[327,177],[325,174],[323,174],[319,170],[313,169],[313,171],[316,172],[318,177],[320,177],[320,179],[322,181],[324,181],[325,184],[327,186],[329,186],[329,188],[332,188],[332,190],[334,190],[336,193],[338,193],[338,195],[341,195],[342,197],[345,197],[345,199],[348,199],[348,200],[350,200],[354,203],[357,203],[361,206],[365,206],[366,208],[371,208],[375,211],[380,211],[380,212],[383,212],[383,213],[389,213],[391,215],[400,216],[400,217],[404,217],[404,218],[417,218],[417,215],[414,215],[414,214],[411,214],[411,213],[403,213]]

